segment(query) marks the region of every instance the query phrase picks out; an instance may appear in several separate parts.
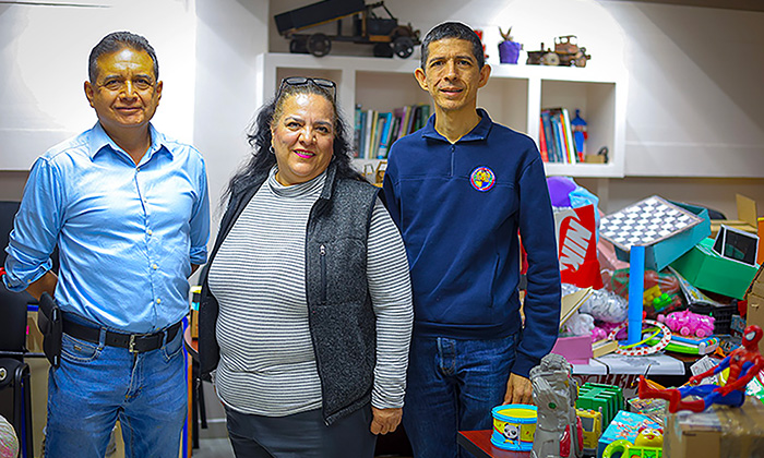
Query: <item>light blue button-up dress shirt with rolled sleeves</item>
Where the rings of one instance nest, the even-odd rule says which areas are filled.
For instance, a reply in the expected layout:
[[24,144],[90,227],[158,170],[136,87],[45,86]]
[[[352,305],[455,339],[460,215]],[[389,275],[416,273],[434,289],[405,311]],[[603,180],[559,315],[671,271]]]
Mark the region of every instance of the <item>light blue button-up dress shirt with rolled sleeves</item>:
[[189,310],[191,264],[204,264],[210,202],[202,155],[150,125],[135,162],[99,123],[32,168],[9,245],[5,285],[21,291],[51,267],[56,300],[103,326],[151,333]]

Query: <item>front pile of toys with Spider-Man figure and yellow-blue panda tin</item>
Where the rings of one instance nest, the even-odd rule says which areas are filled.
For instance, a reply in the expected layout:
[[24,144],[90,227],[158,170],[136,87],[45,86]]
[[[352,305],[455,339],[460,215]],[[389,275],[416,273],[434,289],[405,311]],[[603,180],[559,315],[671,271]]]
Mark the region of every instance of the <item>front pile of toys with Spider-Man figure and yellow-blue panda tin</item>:
[[[536,406],[493,409],[491,444],[538,458],[761,456],[757,454],[764,453],[764,443],[760,430],[764,422],[759,420],[764,421],[764,385],[756,375],[764,378],[764,357],[757,347],[762,335],[761,327],[748,326],[740,348],[680,387],[665,388],[641,376],[638,397],[628,401],[623,389],[616,385],[578,386],[572,365],[562,355],[550,353],[530,371]],[[709,378],[725,372],[726,377]],[[740,447],[733,447],[731,453],[688,453],[696,436],[688,435],[688,425],[693,423],[679,411],[694,412],[689,415],[705,412],[708,418],[701,423],[706,432],[708,422],[717,420],[718,429],[714,431],[719,437],[726,444],[735,439]],[[753,424],[744,424],[752,419]],[[688,430],[678,429],[678,424]],[[669,445],[669,439],[673,445]]]

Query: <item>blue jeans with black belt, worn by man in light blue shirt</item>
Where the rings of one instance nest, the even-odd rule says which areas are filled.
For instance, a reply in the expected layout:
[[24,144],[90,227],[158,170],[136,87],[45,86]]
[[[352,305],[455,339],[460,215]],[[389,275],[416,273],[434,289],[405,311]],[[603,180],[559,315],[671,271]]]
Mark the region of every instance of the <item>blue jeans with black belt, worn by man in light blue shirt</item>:
[[48,373],[47,458],[104,458],[119,418],[127,458],[178,458],[187,390],[182,330],[156,350],[63,335],[61,365]]

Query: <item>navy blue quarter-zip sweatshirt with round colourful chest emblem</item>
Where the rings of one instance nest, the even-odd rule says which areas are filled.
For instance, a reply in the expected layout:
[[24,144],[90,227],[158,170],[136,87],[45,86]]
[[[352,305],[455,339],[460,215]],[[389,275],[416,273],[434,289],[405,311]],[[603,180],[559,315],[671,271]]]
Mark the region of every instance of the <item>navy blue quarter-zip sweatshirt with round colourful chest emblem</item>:
[[[384,177],[390,215],[406,245],[414,333],[494,339],[521,332],[512,370],[551,350],[560,321],[560,268],[544,164],[528,136],[481,121],[456,143],[427,125],[393,145]],[[525,328],[517,284],[528,254]]]

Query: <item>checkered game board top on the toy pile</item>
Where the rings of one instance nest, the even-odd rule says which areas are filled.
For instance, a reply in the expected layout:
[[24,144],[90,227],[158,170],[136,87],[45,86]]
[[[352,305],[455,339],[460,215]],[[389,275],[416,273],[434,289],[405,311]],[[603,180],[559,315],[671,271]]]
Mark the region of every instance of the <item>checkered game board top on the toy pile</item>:
[[599,234],[623,251],[647,246],[703,221],[699,216],[654,195],[602,218]]

